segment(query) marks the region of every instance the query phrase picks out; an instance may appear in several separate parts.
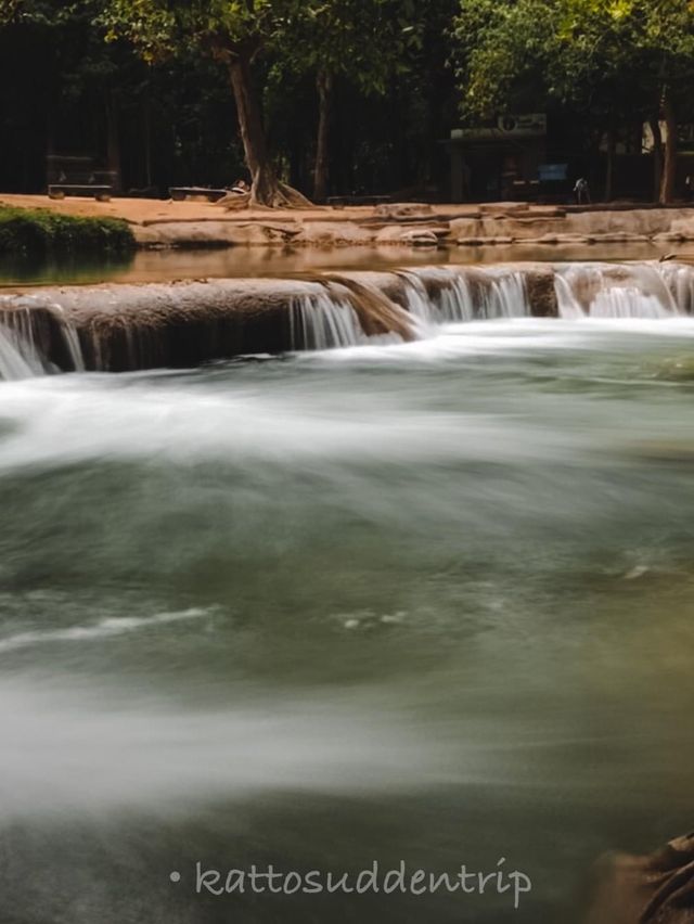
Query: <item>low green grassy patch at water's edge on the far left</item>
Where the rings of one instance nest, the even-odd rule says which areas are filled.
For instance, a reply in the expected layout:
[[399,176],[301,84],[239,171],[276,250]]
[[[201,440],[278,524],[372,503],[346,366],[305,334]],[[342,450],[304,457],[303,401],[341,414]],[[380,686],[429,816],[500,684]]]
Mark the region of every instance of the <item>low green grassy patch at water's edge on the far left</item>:
[[132,231],[120,218],[0,205],[0,254],[123,253],[133,247]]

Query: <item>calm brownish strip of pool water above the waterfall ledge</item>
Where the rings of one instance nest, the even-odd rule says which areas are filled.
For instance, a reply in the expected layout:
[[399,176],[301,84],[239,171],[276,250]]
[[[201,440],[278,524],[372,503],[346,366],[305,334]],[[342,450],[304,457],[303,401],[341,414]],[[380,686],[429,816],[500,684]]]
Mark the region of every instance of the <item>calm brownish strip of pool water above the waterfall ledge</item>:
[[206,277],[287,277],[320,270],[371,270],[430,264],[493,264],[499,260],[654,260],[672,245],[600,244],[510,247],[227,247],[138,251],[108,259],[0,257],[0,288],[95,282],[158,282]]

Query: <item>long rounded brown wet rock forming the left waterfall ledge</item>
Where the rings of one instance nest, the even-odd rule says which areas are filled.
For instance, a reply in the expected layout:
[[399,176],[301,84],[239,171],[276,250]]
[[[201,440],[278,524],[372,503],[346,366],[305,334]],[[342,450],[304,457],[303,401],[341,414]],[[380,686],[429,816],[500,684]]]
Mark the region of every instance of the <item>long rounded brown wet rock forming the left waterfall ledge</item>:
[[[330,329],[348,304],[364,334],[411,339],[407,311],[368,273],[361,277],[47,288],[31,296],[0,296],[0,321],[30,332],[39,355],[63,371],[75,368],[70,342],[78,343],[87,370],[104,372],[189,368],[244,354],[310,348],[296,323],[297,306],[305,304],[312,306],[318,326]],[[389,278],[401,285],[395,273]]]

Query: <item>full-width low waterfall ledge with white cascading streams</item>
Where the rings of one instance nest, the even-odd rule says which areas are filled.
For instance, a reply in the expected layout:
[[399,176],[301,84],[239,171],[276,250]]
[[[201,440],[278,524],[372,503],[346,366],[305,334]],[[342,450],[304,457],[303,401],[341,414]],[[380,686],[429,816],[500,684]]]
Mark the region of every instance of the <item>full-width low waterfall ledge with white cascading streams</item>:
[[[422,339],[441,324],[694,310],[694,268],[664,264],[433,266],[311,280],[209,280],[0,297],[0,375],[192,367],[254,352]],[[35,315],[42,312],[37,325]],[[37,337],[35,329],[42,335]]]

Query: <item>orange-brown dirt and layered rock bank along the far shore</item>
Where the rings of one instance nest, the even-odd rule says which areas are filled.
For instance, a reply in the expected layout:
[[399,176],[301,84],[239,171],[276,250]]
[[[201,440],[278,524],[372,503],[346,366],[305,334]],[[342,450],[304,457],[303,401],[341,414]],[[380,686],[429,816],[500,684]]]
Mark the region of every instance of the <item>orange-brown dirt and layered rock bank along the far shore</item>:
[[561,246],[694,241],[694,207],[611,208],[525,203],[313,207],[227,211],[208,202],[115,198],[52,201],[2,195],[0,203],[128,221],[141,247]]

